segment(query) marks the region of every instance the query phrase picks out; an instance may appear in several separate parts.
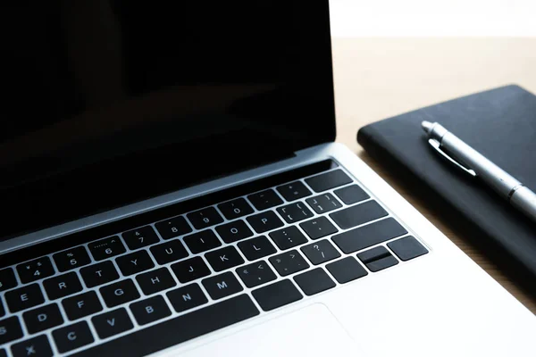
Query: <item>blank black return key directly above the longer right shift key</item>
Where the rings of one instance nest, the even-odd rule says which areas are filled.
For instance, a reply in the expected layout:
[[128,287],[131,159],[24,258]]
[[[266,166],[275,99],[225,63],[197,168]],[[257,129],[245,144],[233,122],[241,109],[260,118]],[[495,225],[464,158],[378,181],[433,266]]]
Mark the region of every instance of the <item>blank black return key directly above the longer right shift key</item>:
[[368,201],[330,214],[331,220],[342,229],[354,228],[371,220],[387,216],[380,204]]

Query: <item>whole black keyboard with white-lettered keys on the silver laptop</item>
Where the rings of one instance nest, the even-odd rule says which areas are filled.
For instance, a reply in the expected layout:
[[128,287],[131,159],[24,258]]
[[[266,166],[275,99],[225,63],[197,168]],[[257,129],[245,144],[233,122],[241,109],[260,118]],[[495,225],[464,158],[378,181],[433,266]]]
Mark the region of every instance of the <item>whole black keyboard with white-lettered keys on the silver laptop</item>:
[[293,172],[4,266],[0,357],[146,355],[428,253],[335,162]]

